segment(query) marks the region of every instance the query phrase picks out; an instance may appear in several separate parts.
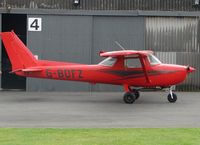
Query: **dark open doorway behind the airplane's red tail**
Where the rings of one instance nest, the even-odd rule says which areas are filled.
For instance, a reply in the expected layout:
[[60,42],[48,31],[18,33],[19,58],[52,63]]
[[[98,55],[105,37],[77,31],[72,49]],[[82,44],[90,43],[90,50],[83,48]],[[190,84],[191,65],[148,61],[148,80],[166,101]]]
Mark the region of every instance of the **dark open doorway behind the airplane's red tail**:
[[[2,14],[2,32],[14,30],[24,44],[26,44],[26,22],[27,16],[25,14]],[[1,88],[26,90],[26,78],[10,73],[12,66],[3,43],[1,62]]]

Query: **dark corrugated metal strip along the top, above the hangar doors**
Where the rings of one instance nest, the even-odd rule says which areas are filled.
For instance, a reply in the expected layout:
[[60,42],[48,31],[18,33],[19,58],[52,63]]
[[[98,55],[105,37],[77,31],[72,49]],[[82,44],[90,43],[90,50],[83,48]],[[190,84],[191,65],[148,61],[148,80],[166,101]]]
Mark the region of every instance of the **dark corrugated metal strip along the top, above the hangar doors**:
[[0,0],[5,8],[82,9],[82,10],[159,10],[194,11],[195,0],[80,0],[79,6],[73,0]]

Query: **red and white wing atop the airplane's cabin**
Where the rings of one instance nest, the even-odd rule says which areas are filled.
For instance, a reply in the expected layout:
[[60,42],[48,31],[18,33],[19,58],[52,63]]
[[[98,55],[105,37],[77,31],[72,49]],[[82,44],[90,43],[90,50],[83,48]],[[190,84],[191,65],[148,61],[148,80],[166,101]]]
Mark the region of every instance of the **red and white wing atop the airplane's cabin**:
[[147,56],[153,53],[152,51],[134,51],[134,50],[122,50],[122,51],[110,51],[110,52],[100,52],[102,57],[120,57],[120,56],[130,56],[130,55],[140,55]]

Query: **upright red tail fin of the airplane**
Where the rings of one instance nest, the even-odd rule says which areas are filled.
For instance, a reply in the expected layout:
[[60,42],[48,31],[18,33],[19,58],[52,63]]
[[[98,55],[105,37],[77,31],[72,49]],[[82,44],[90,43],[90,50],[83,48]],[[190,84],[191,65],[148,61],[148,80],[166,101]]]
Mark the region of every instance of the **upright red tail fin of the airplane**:
[[13,31],[2,32],[1,38],[11,61],[13,72],[36,66],[36,58]]

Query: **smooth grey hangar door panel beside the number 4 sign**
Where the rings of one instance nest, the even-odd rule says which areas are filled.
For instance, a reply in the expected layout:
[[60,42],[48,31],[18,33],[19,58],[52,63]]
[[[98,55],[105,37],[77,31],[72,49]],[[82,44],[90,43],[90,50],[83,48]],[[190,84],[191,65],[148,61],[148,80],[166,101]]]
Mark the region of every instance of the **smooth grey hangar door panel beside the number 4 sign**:
[[[28,47],[39,59],[91,63],[91,28],[89,16],[28,15],[42,18],[41,32],[28,32]],[[32,79],[28,91],[89,91],[81,82]]]

